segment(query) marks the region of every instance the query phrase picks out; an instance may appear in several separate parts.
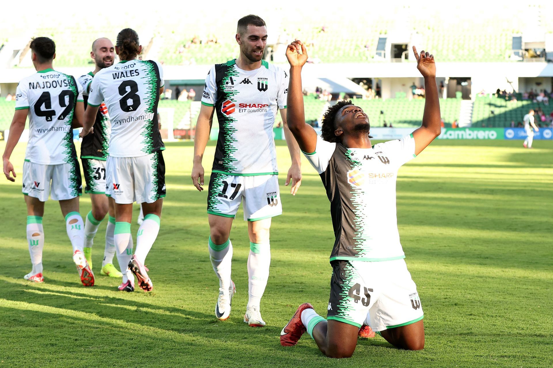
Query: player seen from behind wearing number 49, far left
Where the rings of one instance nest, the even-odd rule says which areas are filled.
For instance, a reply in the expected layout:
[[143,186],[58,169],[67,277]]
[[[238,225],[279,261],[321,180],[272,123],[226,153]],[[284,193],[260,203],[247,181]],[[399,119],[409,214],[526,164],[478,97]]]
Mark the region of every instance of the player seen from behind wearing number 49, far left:
[[[30,43],[36,73],[17,86],[17,99],[8,142],[3,155],[4,175],[15,181],[9,157],[29,116],[29,141],[23,164],[23,194],[27,203],[27,240],[33,270],[25,280],[43,282],[42,218],[48,196],[60,202],[67,235],[73,248],[73,261],[82,285],[93,286],[94,274],[83,253],[85,227],[79,214],[81,170],[73,143],[73,130],[82,126],[84,104],[82,88],[70,75],[53,70],[54,41],[38,37]],[[13,174],[13,177],[10,175]],[[51,184],[50,184],[51,182]]]

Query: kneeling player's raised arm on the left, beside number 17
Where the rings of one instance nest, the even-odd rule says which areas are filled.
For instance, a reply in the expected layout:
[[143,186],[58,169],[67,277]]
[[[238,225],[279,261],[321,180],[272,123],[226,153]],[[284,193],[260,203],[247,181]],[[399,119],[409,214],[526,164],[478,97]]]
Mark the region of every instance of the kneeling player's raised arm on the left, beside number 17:
[[300,40],[295,40],[288,45],[286,59],[290,63],[286,123],[298,141],[300,149],[312,153],[315,152],[317,145],[317,133],[309,124],[305,123],[304,96],[301,88],[301,69],[307,61],[305,45]]

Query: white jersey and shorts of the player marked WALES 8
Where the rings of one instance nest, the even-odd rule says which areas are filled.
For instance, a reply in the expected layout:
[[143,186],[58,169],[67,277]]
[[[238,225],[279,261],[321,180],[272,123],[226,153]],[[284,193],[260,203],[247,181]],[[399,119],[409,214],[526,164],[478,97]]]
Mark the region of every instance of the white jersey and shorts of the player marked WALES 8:
[[111,121],[106,195],[116,203],[153,203],[165,197],[165,149],[158,128],[163,69],[152,60],[122,61],[98,71],[88,104],[107,106]]

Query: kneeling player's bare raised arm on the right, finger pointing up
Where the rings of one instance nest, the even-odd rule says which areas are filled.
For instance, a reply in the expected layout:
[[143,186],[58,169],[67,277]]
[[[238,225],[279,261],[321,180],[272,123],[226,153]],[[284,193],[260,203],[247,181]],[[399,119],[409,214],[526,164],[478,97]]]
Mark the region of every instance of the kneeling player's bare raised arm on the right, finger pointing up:
[[424,77],[425,103],[422,125],[413,132],[415,139],[415,154],[418,155],[441,133],[440,99],[436,85],[436,64],[434,55],[421,51],[420,55],[413,46],[417,69]]

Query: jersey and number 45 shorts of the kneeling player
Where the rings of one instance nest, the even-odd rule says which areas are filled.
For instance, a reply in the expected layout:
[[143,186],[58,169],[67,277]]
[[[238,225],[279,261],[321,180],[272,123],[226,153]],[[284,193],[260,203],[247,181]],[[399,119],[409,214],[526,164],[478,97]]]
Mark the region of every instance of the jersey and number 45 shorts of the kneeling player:
[[382,331],[415,323],[423,312],[399,241],[395,185],[415,157],[413,134],[372,148],[348,149],[317,137],[304,153],[321,176],[336,236],[328,319]]

